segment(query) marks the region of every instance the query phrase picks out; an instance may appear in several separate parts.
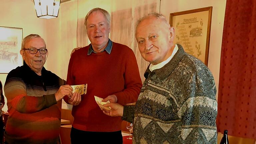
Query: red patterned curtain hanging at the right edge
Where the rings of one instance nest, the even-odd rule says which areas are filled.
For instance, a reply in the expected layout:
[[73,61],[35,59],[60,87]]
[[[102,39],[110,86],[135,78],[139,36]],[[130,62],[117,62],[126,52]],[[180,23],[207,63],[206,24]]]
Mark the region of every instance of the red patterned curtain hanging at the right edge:
[[218,93],[218,132],[256,138],[256,0],[227,0]]

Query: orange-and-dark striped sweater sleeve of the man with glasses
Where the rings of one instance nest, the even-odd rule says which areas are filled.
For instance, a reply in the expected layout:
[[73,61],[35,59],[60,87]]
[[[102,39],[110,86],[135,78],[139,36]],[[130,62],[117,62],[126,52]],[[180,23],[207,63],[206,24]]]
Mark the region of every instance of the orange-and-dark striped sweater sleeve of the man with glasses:
[[35,113],[57,103],[54,94],[41,97],[27,96],[24,81],[17,77],[7,76],[4,93],[9,105],[20,113]]

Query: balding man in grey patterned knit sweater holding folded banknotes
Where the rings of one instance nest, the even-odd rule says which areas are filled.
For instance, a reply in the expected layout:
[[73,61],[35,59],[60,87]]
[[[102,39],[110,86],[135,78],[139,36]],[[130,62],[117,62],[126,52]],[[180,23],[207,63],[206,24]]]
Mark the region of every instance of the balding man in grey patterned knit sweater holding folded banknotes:
[[210,70],[174,45],[174,28],[153,13],[136,27],[142,57],[150,62],[136,106],[105,104],[134,123],[134,144],[216,144],[216,87]]

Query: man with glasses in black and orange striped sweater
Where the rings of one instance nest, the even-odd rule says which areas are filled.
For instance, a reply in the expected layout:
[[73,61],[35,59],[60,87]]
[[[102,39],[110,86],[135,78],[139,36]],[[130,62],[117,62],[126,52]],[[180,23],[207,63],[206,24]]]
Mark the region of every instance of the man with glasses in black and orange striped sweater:
[[[57,144],[59,140],[61,100],[73,99],[72,87],[43,66],[48,51],[36,34],[21,44],[23,66],[9,72],[4,85],[9,117],[5,128],[8,144]],[[78,103],[73,103],[77,105]]]

